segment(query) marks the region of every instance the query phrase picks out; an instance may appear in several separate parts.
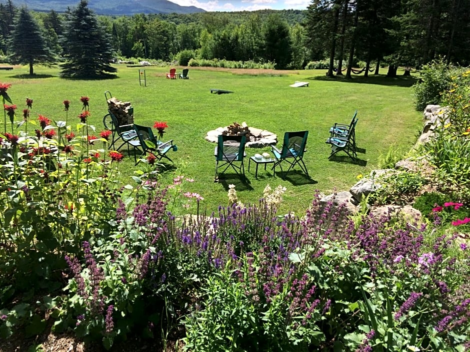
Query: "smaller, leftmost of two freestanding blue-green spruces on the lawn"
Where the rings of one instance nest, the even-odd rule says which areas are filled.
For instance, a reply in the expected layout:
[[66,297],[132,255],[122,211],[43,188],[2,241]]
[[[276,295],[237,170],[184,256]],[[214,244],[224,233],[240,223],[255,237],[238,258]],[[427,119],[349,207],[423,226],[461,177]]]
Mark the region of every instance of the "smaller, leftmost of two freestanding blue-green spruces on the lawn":
[[34,74],[33,65],[55,63],[54,53],[47,46],[39,24],[26,9],[21,7],[15,19],[14,29],[9,41],[12,64],[28,64],[29,74]]

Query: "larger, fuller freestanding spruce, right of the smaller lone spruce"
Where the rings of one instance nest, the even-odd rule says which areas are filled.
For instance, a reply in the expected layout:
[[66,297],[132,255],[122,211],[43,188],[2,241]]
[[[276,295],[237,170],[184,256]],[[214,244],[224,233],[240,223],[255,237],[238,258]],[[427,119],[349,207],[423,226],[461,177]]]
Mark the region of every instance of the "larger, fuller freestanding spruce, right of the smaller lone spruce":
[[66,62],[60,75],[67,78],[98,78],[116,72],[112,59],[110,36],[106,34],[86,0],[67,17],[63,29],[62,47]]

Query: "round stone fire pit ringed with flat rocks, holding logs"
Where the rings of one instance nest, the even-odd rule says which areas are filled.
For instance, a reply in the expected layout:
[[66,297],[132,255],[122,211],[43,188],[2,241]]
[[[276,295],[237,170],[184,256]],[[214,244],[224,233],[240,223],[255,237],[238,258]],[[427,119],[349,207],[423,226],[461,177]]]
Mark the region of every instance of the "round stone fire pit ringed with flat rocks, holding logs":
[[245,122],[241,125],[234,122],[229,126],[218,127],[212,131],[208,131],[205,139],[209,142],[217,143],[217,138],[220,134],[246,135],[247,142],[245,147],[251,148],[261,148],[277,143],[277,136],[274,133],[259,128],[249,127]]

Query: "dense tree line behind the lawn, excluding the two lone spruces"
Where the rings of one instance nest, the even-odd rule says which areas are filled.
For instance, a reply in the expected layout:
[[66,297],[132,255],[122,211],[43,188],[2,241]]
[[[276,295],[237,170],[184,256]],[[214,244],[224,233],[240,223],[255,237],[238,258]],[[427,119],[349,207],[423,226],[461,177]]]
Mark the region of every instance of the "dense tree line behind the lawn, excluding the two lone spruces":
[[[60,61],[70,10],[29,12]],[[12,52],[18,13],[11,0],[0,3],[0,54]],[[390,75],[438,56],[470,63],[470,1],[462,0],[313,0],[305,10],[97,18],[116,57],[170,61],[184,51],[194,58],[274,62],[278,69],[326,59],[330,75],[350,74],[358,61],[367,68],[387,64]]]

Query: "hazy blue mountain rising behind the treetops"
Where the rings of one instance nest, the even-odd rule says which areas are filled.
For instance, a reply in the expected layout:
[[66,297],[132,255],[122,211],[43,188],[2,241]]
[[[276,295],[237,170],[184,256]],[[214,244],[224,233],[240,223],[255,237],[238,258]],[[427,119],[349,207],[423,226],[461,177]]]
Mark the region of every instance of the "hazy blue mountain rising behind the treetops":
[[[4,1],[1,1],[4,2]],[[13,0],[16,6],[30,10],[63,12],[73,8],[79,0]],[[205,12],[195,6],[180,6],[168,0],[88,0],[88,7],[97,14],[132,15],[135,13],[194,13]]]

